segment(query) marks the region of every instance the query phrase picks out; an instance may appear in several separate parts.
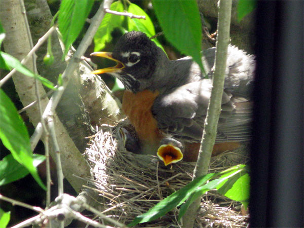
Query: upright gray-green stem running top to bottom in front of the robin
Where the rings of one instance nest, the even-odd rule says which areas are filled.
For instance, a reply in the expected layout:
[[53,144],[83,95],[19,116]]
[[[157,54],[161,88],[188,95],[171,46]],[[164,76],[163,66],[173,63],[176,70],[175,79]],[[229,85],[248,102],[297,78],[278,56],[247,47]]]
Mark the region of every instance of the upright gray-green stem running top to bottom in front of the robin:
[[[194,170],[194,178],[207,174],[212,148],[215,142],[217,123],[221,110],[221,99],[227,62],[227,47],[230,41],[231,7],[232,0],[220,0],[212,91],[204,124],[200,153]],[[193,227],[200,203],[201,197],[189,206],[183,216],[182,227]]]

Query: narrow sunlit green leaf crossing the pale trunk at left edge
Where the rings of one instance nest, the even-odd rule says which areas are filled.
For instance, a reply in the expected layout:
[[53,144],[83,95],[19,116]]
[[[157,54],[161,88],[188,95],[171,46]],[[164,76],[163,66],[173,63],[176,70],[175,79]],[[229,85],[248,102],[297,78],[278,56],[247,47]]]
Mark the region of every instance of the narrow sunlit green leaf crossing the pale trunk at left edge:
[[56,90],[52,82],[41,77],[38,74],[34,74],[32,71],[27,69],[24,65],[22,65],[21,62],[18,59],[16,59],[15,57],[13,57],[5,52],[1,52],[1,51],[0,51],[0,56],[3,57],[4,63],[6,65],[8,65],[10,67],[10,69],[15,68],[18,72],[23,73],[24,75],[26,75],[28,77],[35,78],[35,79],[41,81],[41,83],[43,85],[45,85],[46,87],[48,87],[52,90]]

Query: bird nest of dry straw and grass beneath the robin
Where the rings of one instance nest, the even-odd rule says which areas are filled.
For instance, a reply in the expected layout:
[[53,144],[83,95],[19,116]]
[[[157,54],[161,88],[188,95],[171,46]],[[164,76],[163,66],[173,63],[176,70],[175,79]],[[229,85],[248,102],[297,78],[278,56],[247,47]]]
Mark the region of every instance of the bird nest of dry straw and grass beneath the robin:
[[[122,121],[119,126],[129,123]],[[129,130],[129,129],[128,129]],[[116,127],[102,127],[91,137],[85,155],[91,165],[94,191],[103,212],[111,218],[128,224],[162,199],[191,182],[195,163],[179,162],[166,167],[157,156],[137,155],[126,151]],[[220,172],[237,164],[248,162],[244,146],[238,150],[213,157],[209,172]],[[244,154],[245,153],[245,154]],[[225,198],[216,191],[204,195],[195,227],[246,227],[248,215],[242,215],[241,204]],[[178,209],[165,216],[136,227],[180,227]]]

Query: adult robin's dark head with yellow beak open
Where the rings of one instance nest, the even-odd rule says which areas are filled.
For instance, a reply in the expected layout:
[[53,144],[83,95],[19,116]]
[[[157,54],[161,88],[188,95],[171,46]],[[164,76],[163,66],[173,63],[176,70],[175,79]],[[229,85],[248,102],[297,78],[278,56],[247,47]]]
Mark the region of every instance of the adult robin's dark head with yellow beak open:
[[125,33],[116,44],[112,53],[94,52],[117,62],[116,66],[98,69],[92,73],[109,73],[118,78],[125,88],[134,93],[149,87],[155,72],[158,57],[162,50],[142,32]]

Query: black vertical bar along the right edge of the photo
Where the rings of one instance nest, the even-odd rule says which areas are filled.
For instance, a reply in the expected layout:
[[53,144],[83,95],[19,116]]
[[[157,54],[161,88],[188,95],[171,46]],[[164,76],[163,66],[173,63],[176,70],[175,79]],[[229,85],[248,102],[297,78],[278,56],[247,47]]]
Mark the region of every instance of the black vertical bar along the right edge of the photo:
[[303,227],[303,1],[257,1],[251,227]]

